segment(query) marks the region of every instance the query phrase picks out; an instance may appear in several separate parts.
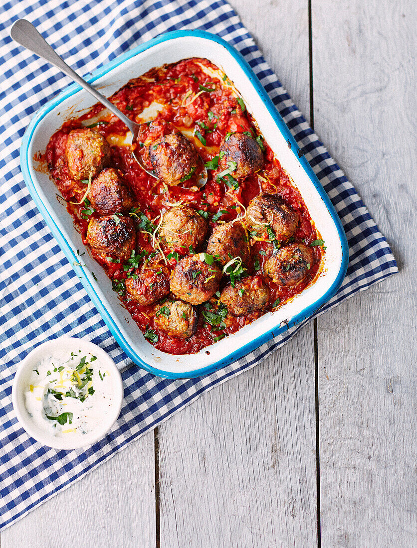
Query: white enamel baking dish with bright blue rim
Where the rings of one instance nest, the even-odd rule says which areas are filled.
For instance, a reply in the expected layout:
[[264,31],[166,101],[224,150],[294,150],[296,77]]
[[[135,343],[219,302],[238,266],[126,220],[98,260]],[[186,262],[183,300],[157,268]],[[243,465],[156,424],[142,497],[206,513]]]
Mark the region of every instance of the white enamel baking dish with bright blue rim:
[[80,281],[117,342],[134,363],[167,378],[211,373],[311,316],[334,295],[345,276],[348,261],[346,236],[328,196],[306,159],[298,155],[294,138],[251,68],[227,42],[203,31],[170,32],[99,68],[89,82],[94,82],[104,95],[110,96],[129,79],[150,68],[190,56],[209,59],[234,82],[282,167],[301,192],[317,230],[326,242],[324,264],[318,278],[278,311],[266,313],[237,333],[195,354],[174,356],[156,350],[131,321],[116,293],[112,292],[110,279],[102,269],[97,269],[97,263],[85,254],[79,265],[76,250],[83,248],[81,237],[71,216],[64,214],[65,206],[55,199],[55,187],[49,175],[36,169],[36,155],[45,151],[50,135],[75,112],[78,116],[87,111],[94,99],[77,85],[71,85],[37,112],[26,130],[20,150],[24,179],[38,209],[65,255],[75,265]]

